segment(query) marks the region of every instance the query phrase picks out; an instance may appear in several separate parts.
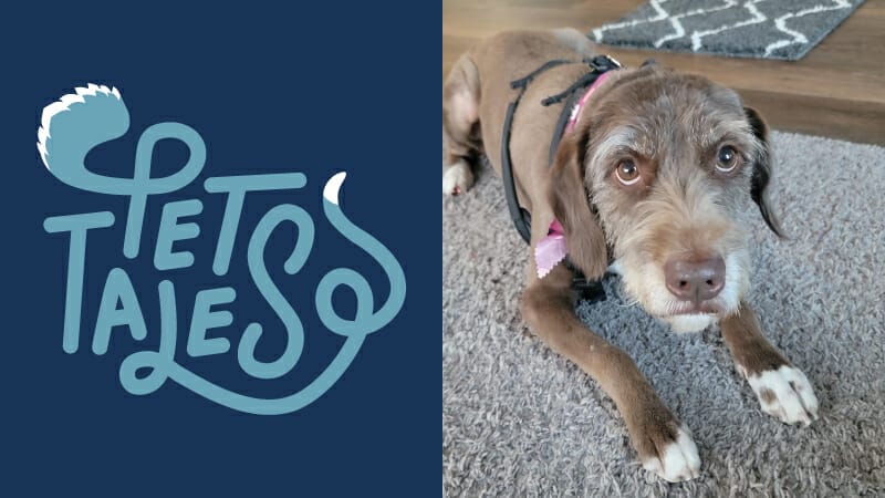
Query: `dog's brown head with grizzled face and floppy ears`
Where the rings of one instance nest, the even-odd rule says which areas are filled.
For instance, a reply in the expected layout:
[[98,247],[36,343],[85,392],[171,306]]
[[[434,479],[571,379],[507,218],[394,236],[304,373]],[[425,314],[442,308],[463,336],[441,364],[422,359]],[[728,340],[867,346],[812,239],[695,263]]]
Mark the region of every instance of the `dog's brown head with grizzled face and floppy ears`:
[[750,270],[739,214],[754,201],[780,235],[766,199],[767,135],[754,110],[704,77],[613,74],[551,172],[572,262],[601,277],[614,257],[629,298],[678,332],[736,312]]

